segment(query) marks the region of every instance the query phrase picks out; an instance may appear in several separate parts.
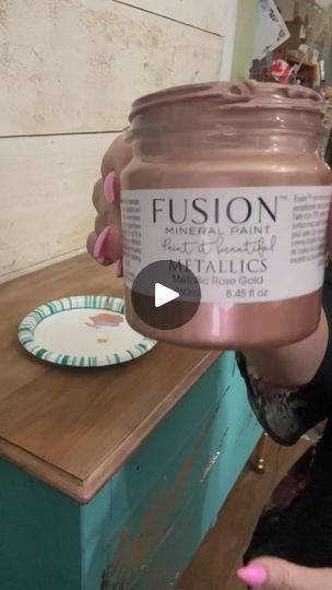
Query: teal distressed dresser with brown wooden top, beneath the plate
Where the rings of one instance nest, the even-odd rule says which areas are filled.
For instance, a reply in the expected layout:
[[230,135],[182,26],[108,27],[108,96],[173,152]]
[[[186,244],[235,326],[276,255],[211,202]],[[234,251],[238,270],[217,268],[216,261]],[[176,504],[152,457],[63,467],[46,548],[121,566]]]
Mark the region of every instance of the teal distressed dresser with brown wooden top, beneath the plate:
[[1,590],[176,588],[261,428],[234,353],[158,344],[107,369],[36,362],[33,307],[121,294],[82,256],[2,285]]

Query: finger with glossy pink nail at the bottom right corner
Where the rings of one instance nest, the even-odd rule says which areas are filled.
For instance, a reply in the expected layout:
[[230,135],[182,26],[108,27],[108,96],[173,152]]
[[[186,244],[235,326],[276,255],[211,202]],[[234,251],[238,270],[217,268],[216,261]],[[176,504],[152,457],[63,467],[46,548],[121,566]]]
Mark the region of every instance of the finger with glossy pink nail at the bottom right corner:
[[301,567],[274,557],[251,562],[237,574],[242,582],[261,590],[332,589],[332,569]]

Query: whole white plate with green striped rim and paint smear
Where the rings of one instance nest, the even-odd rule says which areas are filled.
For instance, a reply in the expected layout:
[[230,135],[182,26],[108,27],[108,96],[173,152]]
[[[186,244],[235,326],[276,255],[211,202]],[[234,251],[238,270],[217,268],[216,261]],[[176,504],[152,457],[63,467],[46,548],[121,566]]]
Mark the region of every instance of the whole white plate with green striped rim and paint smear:
[[96,295],[42,305],[21,322],[19,339],[38,358],[75,367],[126,363],[156,344],[127,323],[123,299]]

